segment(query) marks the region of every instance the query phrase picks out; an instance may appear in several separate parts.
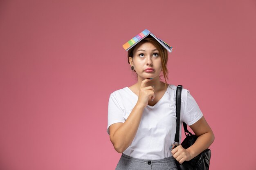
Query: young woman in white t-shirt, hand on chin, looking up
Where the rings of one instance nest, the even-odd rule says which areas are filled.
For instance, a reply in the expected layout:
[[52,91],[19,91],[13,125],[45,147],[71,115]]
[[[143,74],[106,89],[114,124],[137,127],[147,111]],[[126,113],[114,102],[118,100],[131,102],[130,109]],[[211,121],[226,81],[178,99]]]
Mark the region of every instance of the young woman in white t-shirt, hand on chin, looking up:
[[[213,143],[213,132],[198,104],[183,88],[180,122],[189,125],[198,139],[187,149],[181,145],[170,149],[176,132],[177,86],[166,82],[167,52],[150,35],[128,51],[137,83],[111,93],[108,104],[108,134],[122,153],[116,170],[177,170],[175,159],[189,161]],[[160,81],[161,73],[165,82]]]

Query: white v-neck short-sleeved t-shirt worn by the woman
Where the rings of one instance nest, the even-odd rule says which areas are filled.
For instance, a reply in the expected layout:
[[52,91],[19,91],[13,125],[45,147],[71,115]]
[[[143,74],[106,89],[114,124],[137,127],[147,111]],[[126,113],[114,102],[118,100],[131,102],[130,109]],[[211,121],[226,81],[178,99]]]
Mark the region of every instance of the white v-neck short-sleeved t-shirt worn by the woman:
[[[139,159],[163,159],[171,157],[170,147],[176,132],[176,88],[168,84],[163,97],[154,105],[144,108],[135,138],[124,154]],[[138,101],[138,96],[125,87],[110,94],[108,103],[109,126],[124,123]],[[182,121],[192,125],[203,116],[195,99],[187,89],[182,89],[180,110],[180,140]]]

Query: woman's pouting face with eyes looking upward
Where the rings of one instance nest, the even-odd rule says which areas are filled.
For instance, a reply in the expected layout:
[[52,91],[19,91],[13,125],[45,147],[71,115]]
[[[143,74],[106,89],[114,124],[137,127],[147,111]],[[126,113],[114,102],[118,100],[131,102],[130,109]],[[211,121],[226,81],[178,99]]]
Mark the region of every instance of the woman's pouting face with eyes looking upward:
[[[133,51],[133,59],[129,57],[129,61],[131,66],[134,66],[138,77],[144,79],[157,77],[162,70],[159,51],[150,42],[138,44]],[[153,70],[146,71],[147,68],[153,68]]]

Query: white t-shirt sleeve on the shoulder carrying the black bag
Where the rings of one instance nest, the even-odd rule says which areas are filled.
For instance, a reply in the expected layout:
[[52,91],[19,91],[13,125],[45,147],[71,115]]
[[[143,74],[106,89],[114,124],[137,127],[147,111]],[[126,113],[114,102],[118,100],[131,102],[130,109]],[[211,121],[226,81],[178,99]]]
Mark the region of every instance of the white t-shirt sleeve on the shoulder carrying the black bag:
[[203,116],[203,114],[189,90],[185,90],[184,92],[185,93],[182,96],[184,97],[184,100],[182,102],[183,107],[181,109],[181,120],[190,126],[197,122]]

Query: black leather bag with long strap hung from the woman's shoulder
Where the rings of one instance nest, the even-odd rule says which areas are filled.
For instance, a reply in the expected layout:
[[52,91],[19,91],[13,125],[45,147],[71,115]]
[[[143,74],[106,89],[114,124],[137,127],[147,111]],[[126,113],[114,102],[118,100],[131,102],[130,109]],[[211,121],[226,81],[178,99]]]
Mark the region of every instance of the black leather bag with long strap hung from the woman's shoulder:
[[[176,117],[177,117],[176,123],[177,125],[176,125],[174,147],[177,147],[179,145],[179,139],[180,139],[181,91],[182,91],[182,85],[178,85],[176,90]],[[182,141],[181,145],[184,149],[187,149],[195,143],[195,140],[197,139],[197,137],[193,135],[191,132],[189,132],[184,122],[183,122],[183,127],[184,127],[186,138],[184,139],[184,141]],[[184,161],[182,164],[180,164],[178,161],[175,161],[175,162],[178,170],[209,170],[210,159],[211,159],[211,150],[206,149],[202,153],[200,153],[198,156],[191,159],[190,161]]]

